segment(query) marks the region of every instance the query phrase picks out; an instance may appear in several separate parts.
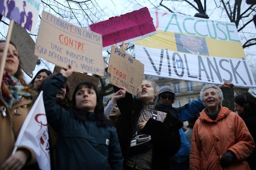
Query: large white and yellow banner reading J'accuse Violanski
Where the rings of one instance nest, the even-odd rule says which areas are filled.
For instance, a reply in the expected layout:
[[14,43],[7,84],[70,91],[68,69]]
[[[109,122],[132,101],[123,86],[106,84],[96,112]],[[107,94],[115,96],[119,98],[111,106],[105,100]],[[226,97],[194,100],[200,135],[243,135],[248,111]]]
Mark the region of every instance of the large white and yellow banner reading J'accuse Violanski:
[[234,23],[149,12],[158,34],[135,43],[136,59],[144,64],[145,75],[256,86]]

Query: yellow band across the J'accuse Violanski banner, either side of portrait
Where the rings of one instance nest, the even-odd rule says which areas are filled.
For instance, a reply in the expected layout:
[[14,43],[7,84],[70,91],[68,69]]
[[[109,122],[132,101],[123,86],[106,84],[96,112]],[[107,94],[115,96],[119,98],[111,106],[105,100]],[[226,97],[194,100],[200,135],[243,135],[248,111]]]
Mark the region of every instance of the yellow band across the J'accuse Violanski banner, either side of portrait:
[[[157,48],[157,49],[168,49],[169,51],[179,51],[177,49],[177,45],[179,44],[177,38],[175,38],[175,34],[173,32],[167,31],[164,33],[162,30],[157,30],[157,34],[151,37],[147,37],[145,39],[137,40],[136,45],[138,46],[146,46],[149,48]],[[177,33],[178,34],[178,33]],[[187,34],[184,34],[187,35]],[[206,56],[214,56],[214,57],[223,57],[226,58],[246,58],[244,51],[242,50],[241,42],[234,41],[224,41],[212,39],[211,37],[201,37],[201,39],[205,39],[206,48],[208,48],[208,55]],[[184,51],[182,51],[184,52]],[[203,54],[201,54],[203,55]]]

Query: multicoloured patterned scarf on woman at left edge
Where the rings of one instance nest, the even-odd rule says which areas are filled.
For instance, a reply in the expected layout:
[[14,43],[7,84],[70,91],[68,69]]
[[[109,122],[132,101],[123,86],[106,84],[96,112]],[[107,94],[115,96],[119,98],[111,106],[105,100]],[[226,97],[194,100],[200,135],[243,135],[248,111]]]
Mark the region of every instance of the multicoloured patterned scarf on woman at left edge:
[[1,92],[5,104],[11,108],[14,104],[23,100],[23,97],[30,98],[28,86],[21,85],[20,81],[4,71]]

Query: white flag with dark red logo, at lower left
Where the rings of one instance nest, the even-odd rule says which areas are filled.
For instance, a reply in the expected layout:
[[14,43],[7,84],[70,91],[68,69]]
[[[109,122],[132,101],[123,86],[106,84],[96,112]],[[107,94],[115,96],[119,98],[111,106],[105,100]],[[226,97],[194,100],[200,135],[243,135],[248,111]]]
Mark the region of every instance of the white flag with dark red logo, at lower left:
[[40,169],[51,169],[49,134],[44,109],[43,91],[40,92],[23,122],[15,146],[27,146],[33,149]]

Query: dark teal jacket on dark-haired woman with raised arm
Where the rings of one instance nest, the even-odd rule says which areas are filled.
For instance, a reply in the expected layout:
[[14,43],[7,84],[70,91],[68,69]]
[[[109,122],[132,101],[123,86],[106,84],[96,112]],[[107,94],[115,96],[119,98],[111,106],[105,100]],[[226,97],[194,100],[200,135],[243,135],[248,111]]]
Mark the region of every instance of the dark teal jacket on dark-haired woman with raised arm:
[[58,73],[45,81],[44,105],[48,124],[58,133],[56,169],[123,169],[122,153],[114,127],[96,126],[95,113],[87,112],[84,122],[55,101],[66,78]]

